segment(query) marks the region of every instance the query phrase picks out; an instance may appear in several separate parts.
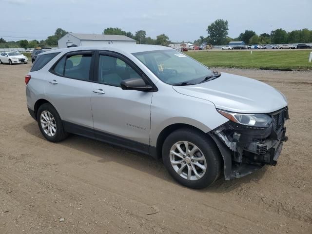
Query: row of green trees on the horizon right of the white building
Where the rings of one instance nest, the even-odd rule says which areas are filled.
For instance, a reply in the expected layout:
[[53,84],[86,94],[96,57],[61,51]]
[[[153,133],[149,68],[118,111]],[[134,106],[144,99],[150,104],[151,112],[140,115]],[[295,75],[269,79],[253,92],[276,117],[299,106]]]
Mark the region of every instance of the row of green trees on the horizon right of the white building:
[[207,37],[200,36],[194,41],[194,44],[202,44],[204,42],[213,45],[226,45],[230,41],[244,41],[245,44],[287,44],[312,42],[312,30],[307,28],[301,30],[293,30],[287,32],[282,28],[271,31],[270,34],[262,33],[257,35],[253,30],[245,30],[239,34],[237,38],[228,37],[229,22],[227,20],[218,19],[210,24],[207,29]]

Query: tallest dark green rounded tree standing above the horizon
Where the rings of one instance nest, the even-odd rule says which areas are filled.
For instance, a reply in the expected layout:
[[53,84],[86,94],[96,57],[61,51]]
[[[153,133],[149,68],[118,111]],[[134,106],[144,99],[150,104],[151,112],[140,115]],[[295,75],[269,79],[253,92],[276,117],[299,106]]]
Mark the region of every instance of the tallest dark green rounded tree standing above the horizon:
[[214,45],[224,45],[228,36],[229,23],[228,20],[215,20],[207,27],[210,43]]

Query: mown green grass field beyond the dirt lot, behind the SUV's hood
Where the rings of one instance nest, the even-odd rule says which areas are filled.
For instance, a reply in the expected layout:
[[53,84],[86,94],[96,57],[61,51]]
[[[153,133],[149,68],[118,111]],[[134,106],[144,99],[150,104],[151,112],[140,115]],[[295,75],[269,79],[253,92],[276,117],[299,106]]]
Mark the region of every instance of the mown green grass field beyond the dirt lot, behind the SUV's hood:
[[208,67],[311,70],[311,50],[290,51],[202,51],[186,54]]

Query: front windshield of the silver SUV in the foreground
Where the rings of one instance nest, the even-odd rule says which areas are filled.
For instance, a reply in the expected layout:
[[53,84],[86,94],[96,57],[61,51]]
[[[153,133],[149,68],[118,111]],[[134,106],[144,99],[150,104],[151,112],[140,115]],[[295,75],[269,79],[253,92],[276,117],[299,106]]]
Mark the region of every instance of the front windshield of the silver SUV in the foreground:
[[133,55],[167,84],[196,84],[214,75],[206,66],[176,50],[147,51]]

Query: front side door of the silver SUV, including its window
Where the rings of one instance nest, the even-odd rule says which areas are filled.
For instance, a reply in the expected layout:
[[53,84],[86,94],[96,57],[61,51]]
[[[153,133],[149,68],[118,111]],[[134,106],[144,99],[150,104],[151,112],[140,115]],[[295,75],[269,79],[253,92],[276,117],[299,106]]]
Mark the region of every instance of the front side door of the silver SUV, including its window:
[[91,92],[96,136],[148,153],[153,92],[121,89],[122,80],[141,77],[137,68],[122,56],[100,52],[97,60],[98,78]]

